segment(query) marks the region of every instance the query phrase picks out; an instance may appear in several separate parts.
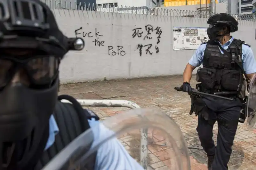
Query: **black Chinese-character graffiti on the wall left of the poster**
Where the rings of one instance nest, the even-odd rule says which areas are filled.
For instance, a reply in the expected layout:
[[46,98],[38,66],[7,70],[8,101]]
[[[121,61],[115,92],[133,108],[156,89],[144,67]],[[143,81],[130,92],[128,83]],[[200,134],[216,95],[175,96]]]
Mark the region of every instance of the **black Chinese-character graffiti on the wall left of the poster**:
[[[159,53],[159,47],[158,44],[160,43],[161,34],[163,33],[161,27],[154,27],[150,24],[145,25],[145,30],[143,30],[141,27],[135,28],[132,30],[132,38],[143,38],[143,40],[151,40],[154,38],[154,35],[156,36],[156,42],[152,43],[145,43],[145,44],[138,44],[137,49],[139,50],[140,56],[142,55],[142,51],[145,51],[146,54],[152,55],[155,51],[156,53]],[[145,35],[146,34],[146,35]]]

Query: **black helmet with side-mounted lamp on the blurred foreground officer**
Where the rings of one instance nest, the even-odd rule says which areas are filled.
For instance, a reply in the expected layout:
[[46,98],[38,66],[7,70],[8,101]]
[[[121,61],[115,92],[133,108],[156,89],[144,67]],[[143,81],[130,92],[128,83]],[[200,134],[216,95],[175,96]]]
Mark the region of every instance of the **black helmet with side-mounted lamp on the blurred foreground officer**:
[[82,50],[84,40],[64,36],[39,0],[1,0],[0,48],[10,47],[46,50],[62,58],[69,50]]

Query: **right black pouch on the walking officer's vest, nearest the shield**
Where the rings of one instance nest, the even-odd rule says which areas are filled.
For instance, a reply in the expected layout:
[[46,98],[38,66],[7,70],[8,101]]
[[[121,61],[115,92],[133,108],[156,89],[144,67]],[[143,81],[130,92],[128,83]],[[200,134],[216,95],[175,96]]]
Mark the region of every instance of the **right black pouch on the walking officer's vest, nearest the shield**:
[[243,84],[243,74],[240,70],[222,70],[220,83],[226,90],[239,91]]

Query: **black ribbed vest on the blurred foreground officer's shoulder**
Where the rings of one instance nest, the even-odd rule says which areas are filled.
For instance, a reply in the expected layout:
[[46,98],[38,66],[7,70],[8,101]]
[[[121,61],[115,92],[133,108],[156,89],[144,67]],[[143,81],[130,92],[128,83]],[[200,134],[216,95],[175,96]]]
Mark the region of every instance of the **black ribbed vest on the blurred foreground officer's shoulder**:
[[[66,95],[65,95],[66,96]],[[70,97],[70,96],[69,96]],[[65,98],[66,99],[66,98]],[[68,100],[68,99],[67,99]],[[70,100],[69,100],[70,101]],[[70,101],[73,103],[72,101]],[[79,104],[79,103],[78,103]],[[80,107],[80,108],[77,108]],[[80,110],[80,111],[79,111]],[[83,110],[83,112],[81,112]],[[87,119],[92,117],[99,120],[96,115],[91,115],[87,110],[84,110],[81,105],[77,103],[57,103],[54,112],[54,118],[59,127],[59,133],[55,136],[54,144],[44,151],[40,160],[38,161],[35,170],[42,169],[55,155],[57,155],[64,147],[72,142],[76,137],[88,129]],[[87,148],[89,150],[90,148]],[[94,170],[96,154],[93,154],[85,165],[84,170]],[[69,166],[69,165],[66,165]],[[68,168],[67,168],[68,169]]]

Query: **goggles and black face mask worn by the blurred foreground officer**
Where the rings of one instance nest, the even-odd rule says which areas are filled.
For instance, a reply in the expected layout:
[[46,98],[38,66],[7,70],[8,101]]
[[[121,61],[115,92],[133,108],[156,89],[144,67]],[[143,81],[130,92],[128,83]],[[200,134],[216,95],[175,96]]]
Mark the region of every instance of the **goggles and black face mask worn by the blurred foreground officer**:
[[[29,169],[44,151],[59,88],[58,57],[17,58],[0,59],[0,164],[13,170]],[[21,76],[16,81],[18,70],[24,70],[28,84]]]

